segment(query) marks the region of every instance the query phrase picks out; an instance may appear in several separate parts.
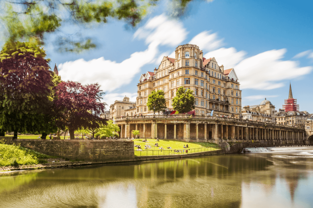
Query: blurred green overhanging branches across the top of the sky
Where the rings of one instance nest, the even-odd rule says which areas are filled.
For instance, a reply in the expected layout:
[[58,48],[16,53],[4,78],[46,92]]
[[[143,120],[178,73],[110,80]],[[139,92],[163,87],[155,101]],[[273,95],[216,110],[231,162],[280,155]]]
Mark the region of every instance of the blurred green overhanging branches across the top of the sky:
[[[59,31],[67,24],[90,27],[114,18],[135,27],[148,13],[147,9],[155,6],[157,1],[12,0],[6,1],[7,7],[2,8],[4,15],[1,22],[6,25],[8,40],[14,42],[30,38],[42,45],[45,33]],[[191,0],[172,1],[181,15]],[[90,38],[81,34],[59,36],[56,42],[61,52],[80,52],[96,47]]]

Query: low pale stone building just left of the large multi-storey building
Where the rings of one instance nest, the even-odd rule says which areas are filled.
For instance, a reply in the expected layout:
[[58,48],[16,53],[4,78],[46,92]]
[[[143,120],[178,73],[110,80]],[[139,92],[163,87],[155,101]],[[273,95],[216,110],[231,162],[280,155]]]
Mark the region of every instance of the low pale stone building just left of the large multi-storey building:
[[[126,116],[126,111],[136,106],[136,102],[130,102],[129,97],[124,97],[123,101],[115,100],[114,104],[110,105],[110,118]],[[132,115],[131,115],[132,116]]]

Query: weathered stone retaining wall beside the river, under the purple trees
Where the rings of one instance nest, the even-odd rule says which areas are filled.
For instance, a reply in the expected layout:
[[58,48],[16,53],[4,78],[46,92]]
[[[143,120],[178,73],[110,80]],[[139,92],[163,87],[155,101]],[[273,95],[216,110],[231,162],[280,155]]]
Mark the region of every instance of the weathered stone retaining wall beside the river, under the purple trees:
[[57,140],[12,139],[2,136],[7,144],[20,144],[40,153],[90,162],[121,162],[134,158],[134,142],[129,140]]

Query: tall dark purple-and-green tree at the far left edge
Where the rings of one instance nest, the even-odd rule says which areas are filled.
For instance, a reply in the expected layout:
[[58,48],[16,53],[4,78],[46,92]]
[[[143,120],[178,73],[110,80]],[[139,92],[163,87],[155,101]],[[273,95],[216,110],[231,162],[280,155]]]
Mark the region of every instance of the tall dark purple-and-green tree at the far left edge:
[[0,52],[0,129],[14,136],[55,127],[48,116],[53,72],[45,56],[32,42],[7,42]]

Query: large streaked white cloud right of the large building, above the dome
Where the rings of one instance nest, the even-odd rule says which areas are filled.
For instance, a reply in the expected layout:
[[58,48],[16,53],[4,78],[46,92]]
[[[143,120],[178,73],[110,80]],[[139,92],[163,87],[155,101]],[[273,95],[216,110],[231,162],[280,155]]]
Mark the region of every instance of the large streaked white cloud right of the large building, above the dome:
[[301,77],[313,67],[299,67],[295,61],[283,61],[286,49],[271,50],[246,58],[236,65],[241,89],[270,90],[283,87],[282,80]]

